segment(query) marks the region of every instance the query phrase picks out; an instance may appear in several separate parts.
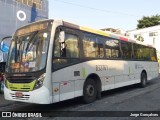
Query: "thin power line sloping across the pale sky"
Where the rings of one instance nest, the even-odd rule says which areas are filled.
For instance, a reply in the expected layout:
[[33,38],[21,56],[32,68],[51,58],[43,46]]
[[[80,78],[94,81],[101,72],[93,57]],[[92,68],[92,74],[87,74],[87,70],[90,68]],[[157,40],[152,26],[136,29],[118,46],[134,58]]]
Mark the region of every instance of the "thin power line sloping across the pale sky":
[[62,0],[54,0],[54,1],[65,3],[65,4],[70,4],[70,5],[73,5],[73,6],[78,6],[78,7],[82,7],[82,8],[86,8],[86,9],[91,9],[91,10],[96,10],[96,11],[100,11],[100,12],[105,12],[105,13],[120,14],[120,15],[131,16],[131,17],[141,17],[141,16],[137,16],[137,15],[134,15],[134,14],[128,14],[128,13],[123,13],[123,12],[98,9],[98,8],[84,6],[84,5],[75,4],[75,3],[71,3],[71,2],[66,2],[66,1],[62,1]]

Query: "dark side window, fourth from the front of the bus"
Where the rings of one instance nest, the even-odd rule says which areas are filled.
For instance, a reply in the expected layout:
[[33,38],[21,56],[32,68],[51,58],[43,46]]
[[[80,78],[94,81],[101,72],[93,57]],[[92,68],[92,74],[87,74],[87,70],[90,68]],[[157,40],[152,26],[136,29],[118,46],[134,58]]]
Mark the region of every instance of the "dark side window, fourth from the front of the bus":
[[132,58],[132,44],[129,42],[121,41],[121,48],[123,53],[124,59],[131,59]]

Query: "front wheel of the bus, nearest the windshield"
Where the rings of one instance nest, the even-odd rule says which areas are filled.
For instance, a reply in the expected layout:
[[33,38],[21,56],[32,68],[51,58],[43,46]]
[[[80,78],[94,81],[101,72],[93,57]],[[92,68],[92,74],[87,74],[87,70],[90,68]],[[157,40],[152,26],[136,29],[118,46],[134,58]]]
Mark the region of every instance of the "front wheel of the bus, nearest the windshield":
[[93,79],[89,78],[84,83],[83,87],[83,101],[85,103],[91,103],[96,100],[97,96],[97,87]]

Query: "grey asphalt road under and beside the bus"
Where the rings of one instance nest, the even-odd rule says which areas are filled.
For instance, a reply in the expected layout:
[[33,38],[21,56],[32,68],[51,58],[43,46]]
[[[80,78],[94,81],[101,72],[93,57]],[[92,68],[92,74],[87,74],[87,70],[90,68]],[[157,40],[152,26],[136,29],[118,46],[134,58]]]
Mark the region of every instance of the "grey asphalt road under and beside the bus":
[[[102,99],[97,100],[91,104],[83,104],[81,98],[67,100],[51,105],[35,105],[20,102],[9,102],[8,105],[0,105],[0,111],[13,111],[22,113],[29,111],[42,113],[43,120],[79,120],[86,119],[86,117],[88,120],[106,120],[106,117],[107,120],[159,120],[159,94],[160,77],[149,81],[146,88],[140,88],[138,85],[132,85],[103,92]],[[2,97],[2,94],[0,97]],[[151,113],[152,116],[158,115],[159,117],[142,117],[143,115],[151,115]],[[139,115],[141,117],[129,117],[130,114],[133,114],[134,116]],[[29,119],[39,120],[40,118]]]

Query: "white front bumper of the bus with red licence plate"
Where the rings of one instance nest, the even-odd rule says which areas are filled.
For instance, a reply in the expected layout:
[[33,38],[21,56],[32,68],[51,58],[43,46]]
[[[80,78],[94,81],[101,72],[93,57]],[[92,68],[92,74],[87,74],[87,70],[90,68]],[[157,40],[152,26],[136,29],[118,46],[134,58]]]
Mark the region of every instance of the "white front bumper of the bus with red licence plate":
[[29,92],[12,91],[4,86],[4,97],[6,100],[36,104],[50,104],[52,102],[49,90],[45,86]]

